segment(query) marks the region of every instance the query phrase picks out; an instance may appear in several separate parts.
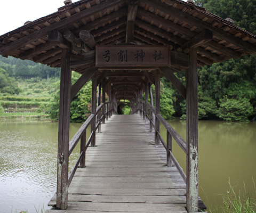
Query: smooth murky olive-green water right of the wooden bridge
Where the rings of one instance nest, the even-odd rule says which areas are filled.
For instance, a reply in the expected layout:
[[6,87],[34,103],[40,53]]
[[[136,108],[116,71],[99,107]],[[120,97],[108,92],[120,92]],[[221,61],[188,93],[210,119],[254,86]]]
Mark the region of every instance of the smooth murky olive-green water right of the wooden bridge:
[[[186,122],[170,124],[186,141]],[[229,179],[236,193],[256,198],[256,122],[199,121],[198,135],[199,196],[206,206],[221,204]],[[173,153],[186,173],[186,155],[175,141]]]

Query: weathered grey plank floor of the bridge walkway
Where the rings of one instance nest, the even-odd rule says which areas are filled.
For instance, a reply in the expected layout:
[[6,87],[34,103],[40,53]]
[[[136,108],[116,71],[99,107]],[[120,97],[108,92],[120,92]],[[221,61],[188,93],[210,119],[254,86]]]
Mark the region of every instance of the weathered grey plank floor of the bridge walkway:
[[96,138],[69,186],[68,209],[46,212],[187,212],[186,185],[139,115],[114,115]]

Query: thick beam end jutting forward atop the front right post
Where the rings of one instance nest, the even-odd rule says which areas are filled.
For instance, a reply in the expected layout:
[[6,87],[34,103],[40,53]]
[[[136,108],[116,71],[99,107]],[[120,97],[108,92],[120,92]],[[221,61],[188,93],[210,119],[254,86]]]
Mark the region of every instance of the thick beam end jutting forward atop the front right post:
[[209,29],[205,29],[190,39],[187,43],[183,44],[181,48],[195,48],[212,40],[213,34]]

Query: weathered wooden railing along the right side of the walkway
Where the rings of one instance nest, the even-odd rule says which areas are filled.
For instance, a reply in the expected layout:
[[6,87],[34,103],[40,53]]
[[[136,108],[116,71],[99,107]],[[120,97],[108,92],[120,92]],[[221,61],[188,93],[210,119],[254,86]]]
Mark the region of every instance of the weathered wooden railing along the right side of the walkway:
[[155,120],[159,120],[163,124],[163,126],[166,129],[166,142],[164,141],[163,137],[159,133],[159,130],[156,130],[155,134],[156,137],[158,137],[159,141],[162,143],[166,150],[166,164],[167,166],[172,166],[172,162],[178,169],[183,181],[187,182],[186,174],[184,173],[183,169],[179,165],[179,162],[177,159],[175,159],[173,153],[172,153],[172,138],[178,143],[180,148],[187,154],[187,144],[185,140],[172,128],[172,126],[161,116],[161,114],[156,114],[155,108],[145,101],[139,101],[135,105],[135,108],[133,110],[133,113],[140,112],[141,116],[143,116],[143,119],[147,118],[150,124],[150,132],[152,132],[152,129],[155,129]]

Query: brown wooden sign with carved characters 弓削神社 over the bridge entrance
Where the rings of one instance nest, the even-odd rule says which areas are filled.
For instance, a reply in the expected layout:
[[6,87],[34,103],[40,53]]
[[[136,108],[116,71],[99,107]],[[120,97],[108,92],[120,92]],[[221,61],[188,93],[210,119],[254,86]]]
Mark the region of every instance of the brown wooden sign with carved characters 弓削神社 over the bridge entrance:
[[169,46],[96,46],[98,67],[163,67],[170,64]]

